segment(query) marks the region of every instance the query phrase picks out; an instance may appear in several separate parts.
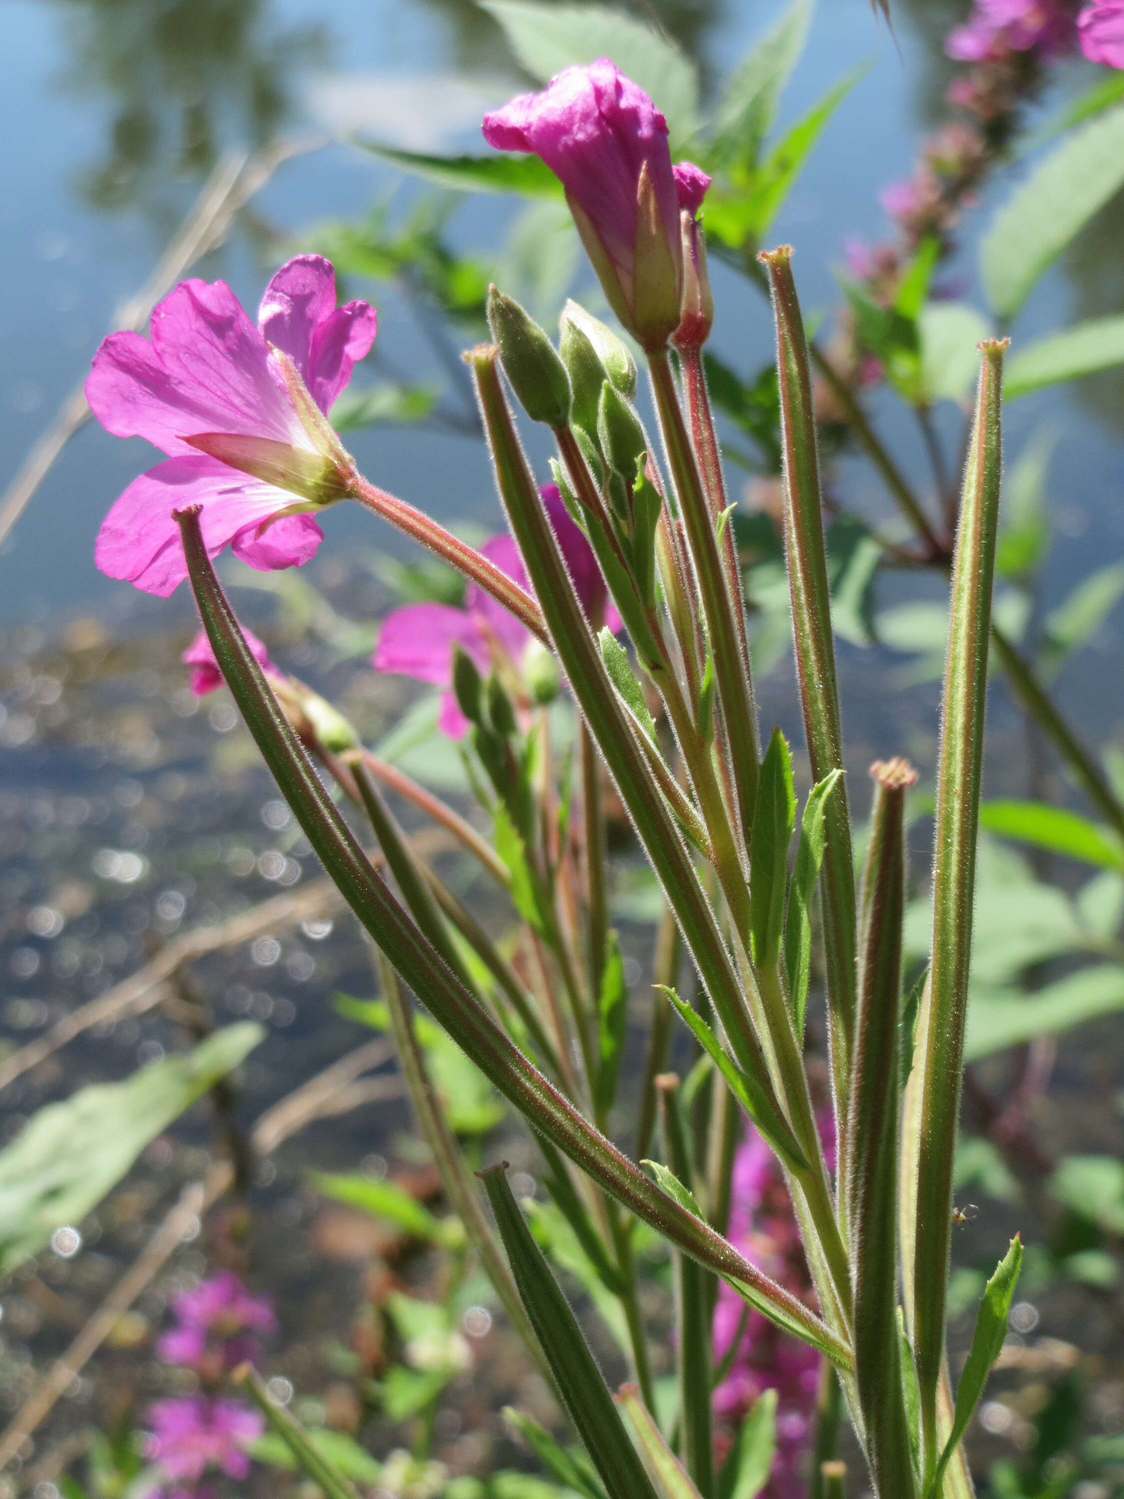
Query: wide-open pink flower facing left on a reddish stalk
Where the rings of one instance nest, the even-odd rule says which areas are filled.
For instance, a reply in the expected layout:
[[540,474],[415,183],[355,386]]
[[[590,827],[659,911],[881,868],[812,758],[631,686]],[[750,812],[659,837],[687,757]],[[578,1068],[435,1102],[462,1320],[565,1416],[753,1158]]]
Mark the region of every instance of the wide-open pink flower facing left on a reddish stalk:
[[[330,261],[298,255],[265,288],[256,327],[225,282],[186,280],[153,310],[150,339],[109,334],[85,382],[90,409],[106,432],[147,438],[168,459],[106,516],[97,567],[171,594],[186,577],[172,511],[190,504],[202,505],[211,556],[229,546],[259,571],[307,562],[322,532],[294,499],[307,510],[340,498],[313,417],[327,417],[375,327],[366,301],[336,306]],[[285,361],[310,397],[304,417]]]

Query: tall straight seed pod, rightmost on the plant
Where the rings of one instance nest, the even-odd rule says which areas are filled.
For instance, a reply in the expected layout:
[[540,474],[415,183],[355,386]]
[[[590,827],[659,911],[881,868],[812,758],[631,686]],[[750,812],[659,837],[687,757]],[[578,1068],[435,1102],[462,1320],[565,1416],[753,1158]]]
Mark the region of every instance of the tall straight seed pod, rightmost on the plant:
[[937,1391],[944,1357],[953,1157],[968,1012],[988,639],[1000,513],[1000,396],[1006,348],[1006,340],[980,345],[980,387],[964,477],[949,612],[937,770],[932,967],[917,1022],[923,1060],[919,1079],[913,1333],[926,1478],[937,1462]]

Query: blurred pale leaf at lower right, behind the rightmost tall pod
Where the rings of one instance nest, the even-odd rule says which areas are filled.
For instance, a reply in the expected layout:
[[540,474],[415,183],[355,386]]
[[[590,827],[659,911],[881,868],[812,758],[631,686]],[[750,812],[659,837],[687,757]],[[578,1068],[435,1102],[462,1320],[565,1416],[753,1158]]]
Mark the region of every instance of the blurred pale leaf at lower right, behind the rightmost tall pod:
[[1124,1010],[1124,968],[1117,964],[1081,968],[1034,994],[977,991],[968,1009],[964,1058],[979,1061],[1039,1036],[1061,1036],[1120,1010]]

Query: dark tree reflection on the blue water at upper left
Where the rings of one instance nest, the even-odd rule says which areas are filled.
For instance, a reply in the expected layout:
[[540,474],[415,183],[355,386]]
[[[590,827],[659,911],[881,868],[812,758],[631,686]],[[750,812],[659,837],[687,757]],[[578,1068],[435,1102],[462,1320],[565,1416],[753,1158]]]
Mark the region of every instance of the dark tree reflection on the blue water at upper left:
[[99,210],[139,208],[165,231],[225,148],[261,147],[294,112],[298,70],[328,55],[327,22],[283,25],[268,0],[51,0],[63,87],[109,105],[75,187]]

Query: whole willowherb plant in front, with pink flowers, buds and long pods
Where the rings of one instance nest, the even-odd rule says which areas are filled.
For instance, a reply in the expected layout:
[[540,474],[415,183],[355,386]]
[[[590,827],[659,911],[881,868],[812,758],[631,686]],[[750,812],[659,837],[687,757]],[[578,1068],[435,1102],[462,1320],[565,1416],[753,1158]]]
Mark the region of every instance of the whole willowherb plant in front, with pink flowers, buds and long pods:
[[[484,132],[501,150],[534,153],[561,178],[605,297],[643,352],[655,432],[637,408],[637,367],[620,337],[571,304],[556,348],[493,288],[495,342],[466,360],[511,537],[477,552],[363,478],[333,430],[328,411],[370,346],[375,313],[366,303],[336,307],[327,261],[300,256],[282,267],[256,327],[223,283],[186,282],[156,310],[151,340],[114,334],[94,360],[87,393],[102,424],[148,436],[168,454],[118,499],[99,564],[156,594],[190,579],[205,630],[205,643],[187,655],[196,691],[226,679],[306,836],[378,949],[390,1024],[445,1190],[587,1450],[584,1492],[757,1492],[758,1429],[770,1408],[746,1412],[721,1396],[740,1367],[743,1307],[746,1319],[767,1319],[793,1340],[785,1358],[811,1396],[802,1420],[812,1403],[820,1412],[802,1457],[787,1454],[788,1472],[803,1468],[815,1493],[841,1492],[841,1391],[881,1499],[961,1499],[973,1489],[959,1444],[1003,1339],[1021,1255],[1015,1241],[988,1285],[953,1388],[952,1171],[1006,343],[982,345],[958,513],[932,955],[913,1009],[902,992],[902,914],[904,802],[914,773],[901,760],[874,766],[871,838],[856,884],[812,379],[791,250],[763,253],[760,273],[776,322],[784,537],[812,775],[799,833],[788,744],[779,730],[764,742],[758,724],[733,507],[701,361],[715,315],[697,217],[709,178],[671,162],[664,117],[607,58],[565,69],[544,93],[489,115]],[[508,391],[553,433],[553,486],[528,465]],[[465,609],[426,604],[393,616],[376,664],[445,688],[442,724],[463,738],[493,818],[492,845],[273,667],[219,585],[213,558],[226,546],[258,568],[304,562],[321,538],[313,517],[342,499],[399,525],[471,585]],[[558,730],[547,714],[562,691],[577,714],[572,763],[552,742]],[[378,860],[319,772],[366,817]],[[628,1015],[611,929],[605,775],[665,904],[635,1121],[617,1142],[610,1132]],[[411,848],[385,785],[438,817],[502,887],[523,922],[519,962]],[[808,1039],[817,907],[826,1090]],[[694,973],[686,983],[680,949]],[[553,1207],[590,1280],[622,1313],[635,1384],[616,1402],[495,1165],[484,1186],[498,1241],[427,1084],[399,980],[541,1145]],[[685,1082],[665,1072],[679,1021],[698,1055]],[[746,1240],[746,1120],[787,1189],[806,1282]],[[670,1417],[655,1400],[655,1330],[634,1252],[640,1223],[673,1259],[679,1400]],[[716,1342],[715,1306],[725,1328]],[[271,1420],[321,1487],[348,1492],[309,1456],[292,1423]],[[547,1439],[540,1451],[558,1450]]]

